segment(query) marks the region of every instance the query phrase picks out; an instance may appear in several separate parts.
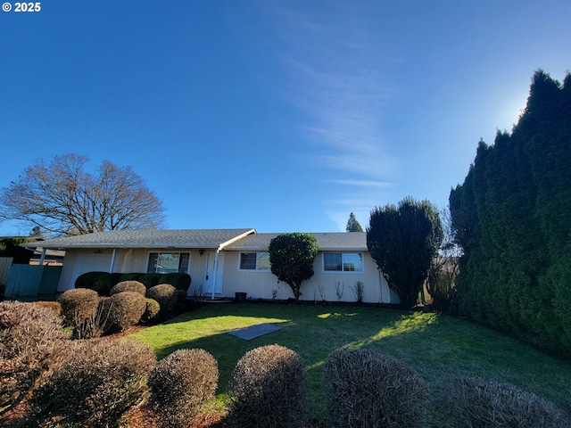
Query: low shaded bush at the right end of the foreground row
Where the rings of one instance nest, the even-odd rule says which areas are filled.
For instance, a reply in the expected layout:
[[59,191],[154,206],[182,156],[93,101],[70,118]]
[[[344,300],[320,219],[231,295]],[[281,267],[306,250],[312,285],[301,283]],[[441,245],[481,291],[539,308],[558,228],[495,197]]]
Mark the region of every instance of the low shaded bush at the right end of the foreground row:
[[445,413],[451,426],[556,428],[569,426],[562,412],[534,393],[508,383],[465,377],[449,383]]

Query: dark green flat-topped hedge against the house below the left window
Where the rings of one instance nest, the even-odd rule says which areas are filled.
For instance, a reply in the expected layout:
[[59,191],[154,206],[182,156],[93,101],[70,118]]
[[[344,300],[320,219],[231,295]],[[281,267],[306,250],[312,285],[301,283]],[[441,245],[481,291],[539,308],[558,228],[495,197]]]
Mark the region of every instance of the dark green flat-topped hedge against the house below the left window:
[[[100,296],[109,296],[111,289],[116,284],[122,282],[137,281],[145,288],[151,288],[158,284],[171,284],[181,292],[187,292],[191,283],[188,274],[120,274],[109,272],[87,272],[82,274],[75,281],[75,288],[88,288],[95,290]],[[129,290],[132,291],[132,290]]]

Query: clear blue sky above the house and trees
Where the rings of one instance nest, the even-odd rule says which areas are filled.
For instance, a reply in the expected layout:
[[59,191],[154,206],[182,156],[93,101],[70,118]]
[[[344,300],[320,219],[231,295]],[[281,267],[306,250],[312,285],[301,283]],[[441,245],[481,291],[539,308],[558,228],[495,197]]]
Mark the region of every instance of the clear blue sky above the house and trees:
[[534,71],[571,68],[570,16],[568,0],[0,12],[0,186],[73,152],[130,166],[169,228],[335,232],[407,195],[445,205],[480,138],[517,121]]

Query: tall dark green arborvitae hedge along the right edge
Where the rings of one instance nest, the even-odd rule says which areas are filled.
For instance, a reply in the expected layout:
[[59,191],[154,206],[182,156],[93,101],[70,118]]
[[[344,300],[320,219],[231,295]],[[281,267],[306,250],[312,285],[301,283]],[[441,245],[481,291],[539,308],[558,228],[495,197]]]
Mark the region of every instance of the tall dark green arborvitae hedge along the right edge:
[[450,205],[460,313],[571,349],[571,74],[534,74],[517,125],[480,142]]

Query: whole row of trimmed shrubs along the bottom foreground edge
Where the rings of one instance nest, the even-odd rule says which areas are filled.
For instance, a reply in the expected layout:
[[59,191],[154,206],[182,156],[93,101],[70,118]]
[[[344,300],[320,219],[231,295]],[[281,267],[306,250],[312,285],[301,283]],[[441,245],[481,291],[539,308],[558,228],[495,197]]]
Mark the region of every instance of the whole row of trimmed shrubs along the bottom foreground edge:
[[[213,396],[218,366],[205,350],[178,350],[156,364],[151,348],[139,342],[70,341],[61,326],[51,309],[0,304],[0,424],[30,391],[25,426],[118,426],[148,389],[148,405],[162,424],[179,428]],[[426,383],[410,366],[376,350],[335,351],[325,363],[324,383],[332,427],[427,424]],[[306,389],[302,359],[293,350],[250,350],[228,382],[228,422],[306,426]],[[568,426],[557,407],[504,383],[453,380],[444,404],[449,426]]]

